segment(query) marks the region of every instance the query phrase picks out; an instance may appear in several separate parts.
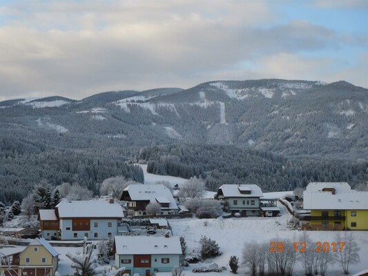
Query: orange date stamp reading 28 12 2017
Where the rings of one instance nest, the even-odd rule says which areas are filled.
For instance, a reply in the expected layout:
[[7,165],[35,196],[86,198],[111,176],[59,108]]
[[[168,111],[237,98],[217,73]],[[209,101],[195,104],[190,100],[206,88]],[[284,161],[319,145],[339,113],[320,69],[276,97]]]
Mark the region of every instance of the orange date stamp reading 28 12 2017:
[[345,246],[345,242],[316,242],[308,246],[307,242],[293,242],[291,248],[284,246],[283,242],[270,242],[271,248],[270,252],[282,253],[284,251],[294,251],[294,252],[342,252],[342,248]]

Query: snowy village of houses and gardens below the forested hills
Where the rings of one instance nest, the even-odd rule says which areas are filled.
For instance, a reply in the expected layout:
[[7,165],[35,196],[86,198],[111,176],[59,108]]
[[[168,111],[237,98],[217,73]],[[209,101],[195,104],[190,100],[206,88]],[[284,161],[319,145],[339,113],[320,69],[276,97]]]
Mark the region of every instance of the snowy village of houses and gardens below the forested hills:
[[[1,275],[72,275],[76,268],[81,270],[76,265],[80,255],[88,252],[104,275],[230,275],[234,269],[260,275],[262,268],[252,274],[246,263],[251,262],[246,250],[254,250],[252,242],[263,243],[263,256],[275,257],[282,252],[273,253],[272,243],[300,244],[308,237],[310,243],[325,246],[331,255],[328,262],[338,257],[326,247],[341,242],[336,233],[343,237],[354,232],[347,230],[358,230],[354,242],[367,243],[368,192],[352,190],[347,183],[314,182],[302,193],[262,193],[254,184],[222,185],[217,193],[204,191],[195,199],[177,196],[188,188],[186,179],[170,179],[169,187],[155,184],[162,176],[146,177],[145,184],[124,188],[118,199],[62,199],[54,209],[39,208],[34,237],[26,237],[26,228],[1,228]],[[285,253],[291,249],[285,248]],[[367,254],[366,247],[360,248],[360,262]],[[271,271],[269,266],[263,265],[264,271]],[[331,274],[325,275],[342,275],[341,268],[331,267]],[[364,268],[356,262],[349,269],[359,273]],[[294,270],[304,269],[297,264]]]

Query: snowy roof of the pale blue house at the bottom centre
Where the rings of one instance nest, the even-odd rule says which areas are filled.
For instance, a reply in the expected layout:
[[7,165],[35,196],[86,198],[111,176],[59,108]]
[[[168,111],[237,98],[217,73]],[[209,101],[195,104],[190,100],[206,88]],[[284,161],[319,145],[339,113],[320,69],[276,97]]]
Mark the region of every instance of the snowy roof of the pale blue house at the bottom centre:
[[117,255],[182,254],[179,237],[115,236]]

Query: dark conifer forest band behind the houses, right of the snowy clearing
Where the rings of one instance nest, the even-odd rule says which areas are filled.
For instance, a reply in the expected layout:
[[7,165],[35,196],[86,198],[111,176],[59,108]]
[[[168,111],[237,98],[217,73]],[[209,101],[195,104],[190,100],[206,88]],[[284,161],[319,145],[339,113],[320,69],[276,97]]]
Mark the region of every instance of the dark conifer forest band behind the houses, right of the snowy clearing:
[[368,162],[340,159],[287,159],[269,152],[238,146],[167,145],[143,148],[137,159],[160,175],[202,177],[209,190],[222,184],[257,184],[267,191],[293,190],[311,181],[368,181]]

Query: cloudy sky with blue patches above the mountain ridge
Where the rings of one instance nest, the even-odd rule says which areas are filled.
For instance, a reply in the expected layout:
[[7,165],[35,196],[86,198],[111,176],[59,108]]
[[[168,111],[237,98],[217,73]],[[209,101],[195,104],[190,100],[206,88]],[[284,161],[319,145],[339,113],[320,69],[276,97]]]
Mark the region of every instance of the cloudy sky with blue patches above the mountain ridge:
[[268,78],[368,88],[368,1],[0,0],[0,101]]

